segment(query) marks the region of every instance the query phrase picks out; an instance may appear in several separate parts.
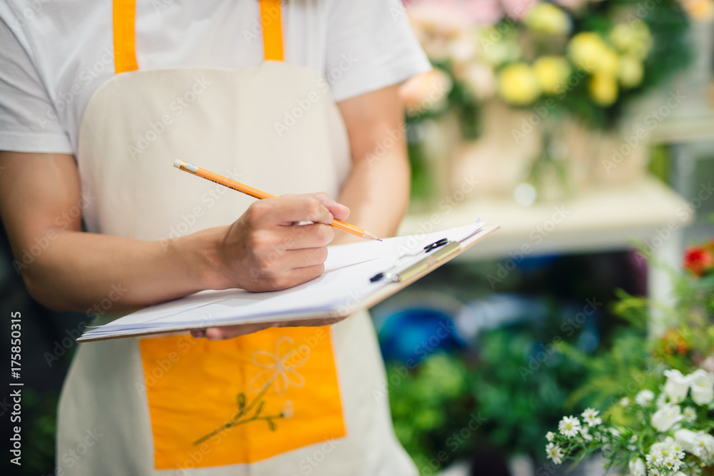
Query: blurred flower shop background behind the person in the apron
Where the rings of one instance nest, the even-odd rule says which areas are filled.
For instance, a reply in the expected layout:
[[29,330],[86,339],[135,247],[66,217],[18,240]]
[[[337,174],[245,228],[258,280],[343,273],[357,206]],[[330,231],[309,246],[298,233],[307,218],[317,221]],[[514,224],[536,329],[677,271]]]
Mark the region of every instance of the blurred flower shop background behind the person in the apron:
[[[687,345],[621,303],[675,302],[668,269],[714,236],[714,2],[413,0],[393,15],[434,66],[402,87],[413,182],[400,233],[478,217],[501,231],[373,308],[388,369],[376,397],[421,475],[565,474],[545,432],[626,396],[613,376],[653,340]],[[22,470],[49,475],[88,318],[29,298],[4,233],[0,253],[2,313],[24,315]],[[594,458],[571,474],[603,470]]]

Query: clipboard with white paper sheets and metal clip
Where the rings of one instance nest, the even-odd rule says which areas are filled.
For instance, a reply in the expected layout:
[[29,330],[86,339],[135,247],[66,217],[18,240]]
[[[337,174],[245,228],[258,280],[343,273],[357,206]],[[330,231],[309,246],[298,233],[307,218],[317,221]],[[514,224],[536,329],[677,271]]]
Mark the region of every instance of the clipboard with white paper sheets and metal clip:
[[[115,338],[143,338],[156,335],[176,335],[187,333],[188,331],[196,328],[271,323],[276,321],[281,323],[290,323],[291,325],[296,326],[299,326],[301,322],[307,323],[308,321],[316,320],[321,321],[319,325],[336,323],[360,310],[371,308],[373,305],[380,303],[382,300],[385,300],[403,288],[406,288],[408,285],[411,285],[424,275],[431,273],[433,270],[436,270],[453,260],[458,255],[461,255],[461,253],[468,250],[468,248],[471,248],[479,241],[491,236],[491,234],[501,228],[498,225],[483,226],[480,221],[472,225],[472,227],[476,226],[478,226],[476,231],[466,236],[466,238],[444,238],[444,235],[448,236],[450,233],[453,237],[455,231],[466,227],[453,228],[450,231],[431,233],[424,236],[424,239],[426,239],[426,245],[423,245],[422,243],[422,246],[416,251],[412,250],[412,252],[408,254],[401,253],[397,256],[383,257],[381,262],[377,262],[372,265],[372,267],[381,265],[381,267],[376,270],[376,273],[369,273],[368,275],[358,277],[359,285],[361,286],[360,289],[365,290],[364,297],[353,298],[347,304],[337,303],[336,305],[325,305],[324,308],[320,309],[304,307],[286,308],[286,312],[281,310],[281,313],[270,311],[271,307],[269,300],[271,299],[273,301],[275,301],[275,299],[282,299],[283,301],[289,302],[291,293],[295,296],[299,295],[301,292],[304,294],[305,291],[313,291],[314,295],[315,287],[319,285],[318,283],[321,278],[325,277],[323,274],[323,276],[321,278],[317,278],[315,282],[303,283],[303,285],[296,288],[275,291],[272,293],[247,293],[243,290],[203,291],[201,293],[196,293],[169,303],[149,306],[149,308],[139,310],[136,313],[131,313],[105,325],[90,325],[86,328],[85,333],[77,339],[77,342],[84,343]],[[413,237],[387,238],[387,240],[404,240],[406,238]],[[376,244],[376,242],[371,242],[341,245],[341,247],[346,247],[342,250],[345,252],[343,254],[346,255],[349,254],[349,247],[366,246],[374,247],[378,246],[378,244]],[[340,246],[335,248],[340,248]],[[391,258],[391,260],[390,263],[384,265],[386,258]],[[360,269],[369,269],[369,262],[370,260],[366,260],[363,263],[354,263],[346,265],[343,268],[349,270],[351,266],[361,266]],[[338,267],[336,270],[342,270],[343,268]],[[356,278],[352,279],[354,280]],[[176,316],[179,315],[198,315],[198,313],[201,313],[203,310],[210,309],[211,306],[213,306],[213,308],[220,308],[222,302],[236,300],[235,296],[242,296],[243,300],[246,301],[257,300],[260,302],[257,305],[252,305],[252,314],[244,312],[244,309],[249,308],[250,306],[243,306],[241,311],[236,310],[234,313],[235,317],[231,317],[229,313],[228,318],[214,320],[190,320],[188,322],[176,321]],[[261,303],[263,308],[268,309],[263,313],[259,312],[261,309]],[[273,305],[273,309],[275,308],[276,306]],[[243,315],[241,315],[241,312],[243,312]],[[137,316],[141,315],[144,315],[144,320],[141,320],[140,317],[137,318]],[[155,318],[155,315],[159,317]],[[164,317],[161,317],[162,315]],[[174,319],[174,321],[172,321],[172,319]]]

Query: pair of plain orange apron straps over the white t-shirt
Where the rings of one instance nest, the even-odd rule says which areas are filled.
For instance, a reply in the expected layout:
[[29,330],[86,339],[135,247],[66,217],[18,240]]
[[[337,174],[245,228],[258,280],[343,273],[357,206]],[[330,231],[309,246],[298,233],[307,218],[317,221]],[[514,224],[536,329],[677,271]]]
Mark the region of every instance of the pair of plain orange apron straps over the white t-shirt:
[[[281,0],[260,0],[265,59],[283,61]],[[136,0],[114,0],[114,70],[116,74],[139,69],[136,64]]]

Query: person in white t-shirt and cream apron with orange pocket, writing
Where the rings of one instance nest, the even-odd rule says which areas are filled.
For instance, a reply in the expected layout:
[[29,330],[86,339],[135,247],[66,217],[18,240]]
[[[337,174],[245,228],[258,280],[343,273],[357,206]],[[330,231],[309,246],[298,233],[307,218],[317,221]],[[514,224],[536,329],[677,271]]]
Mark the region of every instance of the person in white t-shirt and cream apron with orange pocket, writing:
[[[333,219],[396,232],[398,85],[430,68],[398,0],[9,0],[0,19],[0,216],[39,303],[104,323],[290,288],[353,238]],[[313,324],[80,344],[56,474],[415,474],[368,314]]]

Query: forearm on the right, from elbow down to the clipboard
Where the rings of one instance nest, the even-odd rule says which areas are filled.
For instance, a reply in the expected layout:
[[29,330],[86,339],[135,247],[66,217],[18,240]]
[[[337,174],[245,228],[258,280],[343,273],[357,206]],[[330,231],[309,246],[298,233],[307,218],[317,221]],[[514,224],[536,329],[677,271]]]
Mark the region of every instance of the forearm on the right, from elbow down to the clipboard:
[[[381,238],[394,236],[409,201],[409,164],[401,147],[356,161],[339,202],[350,208],[349,223]],[[359,240],[338,233],[333,244]]]

